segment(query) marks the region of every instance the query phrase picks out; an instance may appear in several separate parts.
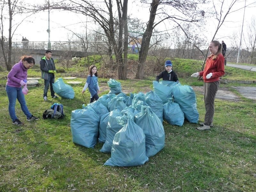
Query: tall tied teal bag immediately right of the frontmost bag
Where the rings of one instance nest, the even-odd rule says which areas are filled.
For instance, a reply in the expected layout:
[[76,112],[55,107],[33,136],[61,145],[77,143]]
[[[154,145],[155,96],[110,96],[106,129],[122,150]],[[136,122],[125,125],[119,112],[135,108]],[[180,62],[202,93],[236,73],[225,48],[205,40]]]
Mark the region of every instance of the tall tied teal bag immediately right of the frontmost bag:
[[141,108],[141,112],[135,116],[135,123],[145,133],[146,156],[154,156],[164,148],[164,126],[150,107]]

